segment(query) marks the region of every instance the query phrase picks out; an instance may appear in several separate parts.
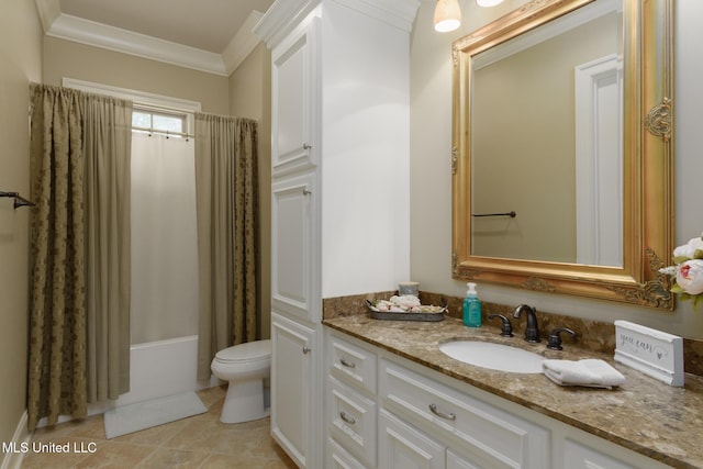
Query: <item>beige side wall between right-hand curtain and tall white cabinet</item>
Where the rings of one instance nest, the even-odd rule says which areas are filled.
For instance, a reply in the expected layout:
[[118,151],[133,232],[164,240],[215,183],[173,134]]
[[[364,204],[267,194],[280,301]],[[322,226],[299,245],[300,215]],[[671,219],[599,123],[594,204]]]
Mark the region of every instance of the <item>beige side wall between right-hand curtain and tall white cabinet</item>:
[[261,43],[230,76],[230,112],[258,121],[261,338],[271,328],[271,53]]

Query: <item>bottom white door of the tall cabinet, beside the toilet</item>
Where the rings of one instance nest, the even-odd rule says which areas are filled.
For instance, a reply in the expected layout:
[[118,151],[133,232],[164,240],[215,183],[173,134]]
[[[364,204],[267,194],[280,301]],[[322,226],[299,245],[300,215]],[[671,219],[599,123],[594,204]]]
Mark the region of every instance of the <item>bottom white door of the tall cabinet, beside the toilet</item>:
[[314,331],[271,314],[271,434],[301,467],[310,467],[311,434],[320,412],[313,357]]

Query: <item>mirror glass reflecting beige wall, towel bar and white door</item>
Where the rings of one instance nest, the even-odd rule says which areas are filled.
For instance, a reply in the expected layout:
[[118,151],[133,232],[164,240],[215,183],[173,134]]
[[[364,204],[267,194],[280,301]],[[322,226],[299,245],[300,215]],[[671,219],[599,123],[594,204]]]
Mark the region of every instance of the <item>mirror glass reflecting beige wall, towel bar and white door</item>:
[[472,56],[471,255],[623,266],[623,48],[599,0]]

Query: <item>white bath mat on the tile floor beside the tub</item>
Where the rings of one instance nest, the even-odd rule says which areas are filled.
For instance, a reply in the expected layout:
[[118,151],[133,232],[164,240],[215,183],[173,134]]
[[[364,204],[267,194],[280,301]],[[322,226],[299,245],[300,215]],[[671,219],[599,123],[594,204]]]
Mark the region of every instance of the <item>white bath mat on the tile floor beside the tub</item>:
[[103,414],[108,439],[208,412],[198,394],[183,392],[112,409]]

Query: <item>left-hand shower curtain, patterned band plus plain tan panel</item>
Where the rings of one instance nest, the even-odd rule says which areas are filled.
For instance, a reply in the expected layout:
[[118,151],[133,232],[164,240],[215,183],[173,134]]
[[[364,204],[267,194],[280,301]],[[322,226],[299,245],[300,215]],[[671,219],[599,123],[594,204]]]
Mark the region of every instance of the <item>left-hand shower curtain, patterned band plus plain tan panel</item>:
[[88,402],[129,387],[132,104],[46,85],[30,91],[33,429],[42,417],[85,416]]

